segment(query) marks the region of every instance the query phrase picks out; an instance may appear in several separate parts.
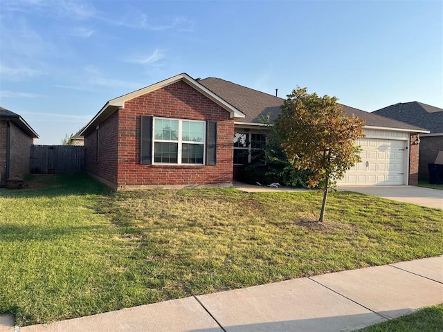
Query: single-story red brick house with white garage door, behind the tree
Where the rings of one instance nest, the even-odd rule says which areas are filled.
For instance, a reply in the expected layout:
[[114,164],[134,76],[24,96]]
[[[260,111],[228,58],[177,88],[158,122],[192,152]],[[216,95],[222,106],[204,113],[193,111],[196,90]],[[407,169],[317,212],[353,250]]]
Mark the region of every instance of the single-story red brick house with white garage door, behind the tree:
[[[283,99],[233,82],[186,73],[109,100],[80,131],[85,168],[117,190],[230,185],[266,139],[261,117]],[[343,108],[366,120],[364,158],[344,184],[417,183],[415,126]],[[375,153],[375,156],[374,156]],[[362,167],[363,165],[363,167]],[[395,174],[393,174],[395,172]]]

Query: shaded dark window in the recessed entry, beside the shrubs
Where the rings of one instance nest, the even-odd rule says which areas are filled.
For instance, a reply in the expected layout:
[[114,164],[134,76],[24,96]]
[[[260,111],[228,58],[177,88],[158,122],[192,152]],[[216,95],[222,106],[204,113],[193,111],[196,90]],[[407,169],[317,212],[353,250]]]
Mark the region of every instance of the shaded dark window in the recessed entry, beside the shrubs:
[[262,133],[234,133],[234,165],[246,165],[264,158],[266,136]]

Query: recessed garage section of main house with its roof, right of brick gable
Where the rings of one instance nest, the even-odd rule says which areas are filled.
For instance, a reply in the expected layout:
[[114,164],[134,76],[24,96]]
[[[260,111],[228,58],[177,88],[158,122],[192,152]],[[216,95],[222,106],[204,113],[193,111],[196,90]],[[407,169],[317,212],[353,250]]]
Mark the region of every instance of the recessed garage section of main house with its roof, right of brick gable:
[[[251,161],[251,149],[259,147],[264,140],[260,134],[263,132],[261,118],[271,113],[270,119],[275,119],[284,100],[219,78],[209,77],[199,82],[245,114],[234,122],[235,177],[241,165]],[[417,185],[417,134],[427,131],[353,107],[342,107],[347,116],[365,120],[365,138],[357,142],[363,150],[361,163],[354,165],[338,185]],[[242,144],[248,141],[249,145]],[[242,154],[247,149],[249,153]]]

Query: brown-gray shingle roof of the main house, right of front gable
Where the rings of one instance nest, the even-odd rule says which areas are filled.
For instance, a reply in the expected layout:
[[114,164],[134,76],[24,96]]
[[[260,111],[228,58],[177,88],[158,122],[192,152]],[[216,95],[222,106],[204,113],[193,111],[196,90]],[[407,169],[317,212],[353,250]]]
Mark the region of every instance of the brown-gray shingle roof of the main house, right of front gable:
[[[268,93],[253,90],[246,86],[215,77],[199,80],[199,83],[206,86],[210,91],[213,91],[213,93],[219,95],[219,97],[223,98],[234,107],[237,107],[237,109],[245,114],[245,118],[237,119],[237,122],[260,123],[261,116],[266,116],[268,113],[271,113],[271,120],[274,120],[277,118],[278,114],[281,113],[280,106],[283,104],[284,99],[275,97],[275,95],[269,95]],[[346,105],[342,106],[347,113],[347,116],[352,116],[352,114],[354,114],[355,116],[364,119],[365,126],[399,128],[408,129],[410,131],[422,129],[415,125],[384,118],[383,116],[368,113],[361,109],[354,109],[354,107]]]

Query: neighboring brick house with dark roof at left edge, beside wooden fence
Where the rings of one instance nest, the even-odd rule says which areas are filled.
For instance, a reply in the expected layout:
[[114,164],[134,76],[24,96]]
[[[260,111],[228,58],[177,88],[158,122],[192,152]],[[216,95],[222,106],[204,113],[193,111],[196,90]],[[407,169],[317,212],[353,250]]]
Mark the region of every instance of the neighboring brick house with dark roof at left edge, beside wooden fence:
[[0,185],[6,179],[29,174],[30,146],[39,138],[18,114],[0,107]]

